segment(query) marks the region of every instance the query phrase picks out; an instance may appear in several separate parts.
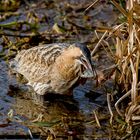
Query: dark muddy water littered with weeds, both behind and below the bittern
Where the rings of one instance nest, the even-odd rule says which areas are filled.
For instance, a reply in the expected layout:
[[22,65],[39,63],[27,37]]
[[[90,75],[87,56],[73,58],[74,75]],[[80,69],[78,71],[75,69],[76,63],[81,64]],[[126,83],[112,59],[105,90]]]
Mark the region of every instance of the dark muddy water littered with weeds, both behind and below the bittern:
[[[79,4],[80,1],[80,4]],[[105,22],[110,26],[116,20],[116,15],[113,12],[112,6],[106,5],[105,8],[99,4],[95,9],[91,8],[87,15],[83,16],[83,8],[87,8],[90,0],[78,1],[49,1],[44,4],[44,1],[37,3],[29,1],[27,4],[29,9],[26,10],[26,4],[21,4],[18,8],[18,14],[13,14],[9,18],[1,21],[1,24],[6,24],[15,21],[34,22],[35,17],[31,17],[34,13],[38,17],[38,26],[36,29],[30,29],[25,24],[19,27],[8,28],[3,31],[7,34],[15,34],[21,36],[32,33],[32,30],[37,30],[39,33],[49,32],[54,37],[46,37],[44,42],[89,42],[94,40],[91,30],[95,25],[103,25]],[[39,4],[39,8],[38,5]],[[72,11],[72,12],[71,12]],[[27,13],[30,13],[27,15]],[[112,13],[110,15],[110,13]],[[106,18],[105,18],[106,17]],[[68,21],[66,19],[69,19]],[[72,20],[71,20],[72,19]],[[87,19],[87,20],[86,20]],[[100,22],[101,20],[101,22]],[[107,21],[106,21],[107,20]],[[98,21],[98,22],[97,22]],[[67,32],[60,35],[53,28],[54,23],[64,26]],[[76,23],[76,25],[74,25]],[[36,25],[37,23],[35,23]],[[78,29],[76,29],[76,27]],[[88,27],[86,30],[85,27]],[[10,27],[9,27],[10,28]],[[82,30],[84,28],[84,30]],[[16,34],[16,35],[17,35]],[[67,35],[68,34],[68,35]],[[56,36],[56,37],[55,37]],[[8,39],[19,46],[21,43],[19,38],[9,37]],[[3,39],[4,40],[4,39]],[[0,39],[1,59],[5,60],[8,49],[7,44]],[[25,42],[24,46],[31,43],[40,43],[37,40],[34,42]],[[36,41],[36,42],[35,42]],[[96,40],[95,40],[96,41]],[[91,41],[92,42],[92,41]],[[94,44],[94,42],[92,42]],[[92,44],[91,43],[91,44]],[[92,44],[92,45],[93,45]],[[94,45],[93,45],[94,46]],[[92,47],[93,47],[92,46]],[[11,47],[9,45],[9,47]],[[23,49],[20,46],[19,49]],[[14,48],[15,49],[15,48]],[[18,48],[16,48],[18,50]],[[2,51],[1,51],[2,50]],[[13,50],[12,50],[13,51]],[[11,55],[14,57],[16,51]],[[99,55],[99,56],[98,56]],[[98,55],[93,58],[94,65],[98,70],[103,70],[112,65],[112,62],[106,55],[103,49],[99,49]],[[102,73],[102,72],[101,72]],[[103,75],[103,74],[100,74]],[[104,78],[104,76],[102,77]],[[90,79],[85,85],[80,85],[73,90],[72,97],[54,97],[50,96],[42,105],[31,98],[32,91],[29,91],[25,84],[21,81],[17,82],[14,75],[9,72],[8,64],[0,63],[0,135],[11,136],[17,135],[23,137],[28,135],[29,138],[43,137],[44,139],[108,139],[114,138],[114,130],[111,130],[109,124],[109,112],[106,103],[106,94],[112,93],[114,83],[107,81],[100,86],[96,86],[96,80]],[[12,86],[11,86],[12,85]]]

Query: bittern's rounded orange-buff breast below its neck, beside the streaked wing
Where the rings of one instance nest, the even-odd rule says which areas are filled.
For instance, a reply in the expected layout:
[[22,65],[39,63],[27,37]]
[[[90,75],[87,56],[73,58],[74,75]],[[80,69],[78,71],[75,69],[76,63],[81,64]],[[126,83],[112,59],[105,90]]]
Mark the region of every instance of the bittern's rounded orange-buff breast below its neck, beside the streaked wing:
[[74,60],[57,59],[51,74],[51,86],[55,92],[63,93],[79,79],[80,65]]

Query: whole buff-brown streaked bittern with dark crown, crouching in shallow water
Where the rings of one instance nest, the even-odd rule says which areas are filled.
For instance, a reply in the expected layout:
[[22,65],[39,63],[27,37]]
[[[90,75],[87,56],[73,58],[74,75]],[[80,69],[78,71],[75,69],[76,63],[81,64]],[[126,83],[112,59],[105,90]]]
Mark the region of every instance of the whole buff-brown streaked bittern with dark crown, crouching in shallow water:
[[85,44],[49,44],[22,50],[10,62],[39,95],[67,94],[80,77],[93,76],[91,54]]

